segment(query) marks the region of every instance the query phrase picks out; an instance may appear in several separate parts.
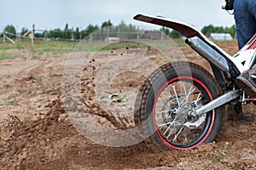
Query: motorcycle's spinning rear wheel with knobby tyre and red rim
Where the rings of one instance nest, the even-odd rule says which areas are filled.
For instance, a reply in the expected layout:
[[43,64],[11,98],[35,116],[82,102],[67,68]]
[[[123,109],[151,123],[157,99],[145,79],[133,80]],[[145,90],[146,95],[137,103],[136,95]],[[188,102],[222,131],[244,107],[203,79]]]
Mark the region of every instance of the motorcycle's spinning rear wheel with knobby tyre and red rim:
[[220,94],[218,82],[200,65],[162,65],[137,94],[134,117],[143,136],[149,136],[144,143],[159,150],[186,150],[216,139],[224,124],[224,106],[200,117],[189,111]]

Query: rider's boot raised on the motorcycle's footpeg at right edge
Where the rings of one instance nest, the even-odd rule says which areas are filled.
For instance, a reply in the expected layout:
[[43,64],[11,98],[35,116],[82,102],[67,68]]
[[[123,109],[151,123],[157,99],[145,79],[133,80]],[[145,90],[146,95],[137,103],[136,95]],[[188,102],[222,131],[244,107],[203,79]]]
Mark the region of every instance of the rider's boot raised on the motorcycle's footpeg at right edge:
[[236,78],[236,84],[243,89],[246,94],[252,98],[256,98],[256,65],[248,71],[241,73]]

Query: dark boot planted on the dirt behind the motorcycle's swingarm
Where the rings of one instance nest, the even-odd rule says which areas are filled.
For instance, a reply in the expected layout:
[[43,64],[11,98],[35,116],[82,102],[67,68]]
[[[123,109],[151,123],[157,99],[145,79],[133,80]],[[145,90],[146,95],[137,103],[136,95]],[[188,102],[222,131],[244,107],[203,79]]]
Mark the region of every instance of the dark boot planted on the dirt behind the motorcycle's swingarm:
[[241,103],[236,105],[227,105],[226,111],[228,112],[229,121],[250,121],[253,115],[249,113],[243,113],[241,111]]

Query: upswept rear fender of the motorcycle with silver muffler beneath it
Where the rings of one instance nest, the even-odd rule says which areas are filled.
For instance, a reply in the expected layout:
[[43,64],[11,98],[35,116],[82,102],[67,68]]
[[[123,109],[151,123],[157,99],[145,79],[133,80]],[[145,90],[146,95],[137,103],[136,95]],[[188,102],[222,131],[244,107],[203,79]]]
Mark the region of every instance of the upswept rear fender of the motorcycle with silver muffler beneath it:
[[[207,59],[211,65],[224,71],[228,78],[236,78],[240,75],[241,65],[234,63],[230,54],[227,54],[223,49],[219,48],[214,42],[209,40],[201,31],[198,31],[194,26],[178,20],[171,20],[164,17],[150,16],[145,14],[137,14],[134,20],[148,22],[158,26],[165,26],[179,31],[187,38],[187,43],[203,58]],[[219,75],[219,74],[218,74]]]

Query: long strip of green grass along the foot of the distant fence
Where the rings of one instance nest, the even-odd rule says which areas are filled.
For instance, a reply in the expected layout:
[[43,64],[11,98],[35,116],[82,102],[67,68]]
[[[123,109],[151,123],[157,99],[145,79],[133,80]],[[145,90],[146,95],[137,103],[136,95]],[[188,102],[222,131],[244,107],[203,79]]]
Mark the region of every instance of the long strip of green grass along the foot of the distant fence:
[[[169,48],[171,40],[131,40],[131,41],[121,41],[121,42],[61,42],[61,41],[35,41],[32,46],[30,40],[20,40],[15,44],[10,42],[0,42],[0,49],[8,50],[14,48],[31,48],[32,52],[36,52],[39,55],[45,53],[52,54],[63,54],[75,51],[98,51],[98,50],[113,50],[119,48],[148,48],[152,46],[153,48]],[[174,42],[177,46],[183,46],[185,44],[182,39],[175,39]],[[150,45],[149,45],[150,44]]]

